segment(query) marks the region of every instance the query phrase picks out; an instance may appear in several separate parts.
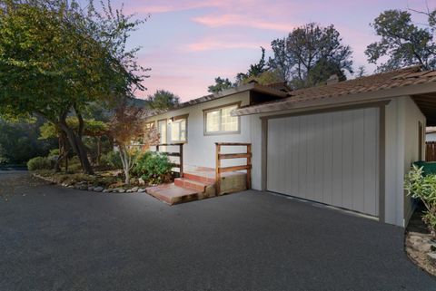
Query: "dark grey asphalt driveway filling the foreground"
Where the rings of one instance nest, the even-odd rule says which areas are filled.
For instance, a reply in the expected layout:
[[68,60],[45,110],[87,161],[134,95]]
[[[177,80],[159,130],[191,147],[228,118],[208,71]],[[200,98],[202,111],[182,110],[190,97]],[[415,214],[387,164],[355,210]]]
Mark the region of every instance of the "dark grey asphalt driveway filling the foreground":
[[402,228],[269,193],[170,207],[0,172],[0,200],[2,291],[436,290]]

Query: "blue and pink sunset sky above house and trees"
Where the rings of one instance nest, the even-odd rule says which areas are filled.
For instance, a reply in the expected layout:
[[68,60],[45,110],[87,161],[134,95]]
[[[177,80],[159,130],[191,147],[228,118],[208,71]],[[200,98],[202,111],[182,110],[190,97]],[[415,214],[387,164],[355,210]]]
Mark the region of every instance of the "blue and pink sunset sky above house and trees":
[[[364,50],[377,40],[370,23],[386,9],[425,9],[425,0],[183,0],[124,2],[124,13],[148,21],[133,35],[131,44],[143,46],[140,63],[152,68],[144,84],[144,97],[165,89],[183,101],[207,94],[214,77],[234,79],[261,56],[260,46],[271,55],[271,41],[292,28],[316,22],[334,24],[344,44],[353,50],[354,67],[368,65]],[[436,6],[436,0],[428,0]]]

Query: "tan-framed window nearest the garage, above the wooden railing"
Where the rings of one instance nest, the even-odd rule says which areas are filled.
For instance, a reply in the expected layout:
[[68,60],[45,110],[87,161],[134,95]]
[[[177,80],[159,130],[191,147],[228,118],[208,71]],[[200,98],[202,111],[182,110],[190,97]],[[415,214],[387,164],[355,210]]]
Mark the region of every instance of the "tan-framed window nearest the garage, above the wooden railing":
[[204,111],[205,134],[239,132],[239,117],[231,112],[239,107],[238,104]]

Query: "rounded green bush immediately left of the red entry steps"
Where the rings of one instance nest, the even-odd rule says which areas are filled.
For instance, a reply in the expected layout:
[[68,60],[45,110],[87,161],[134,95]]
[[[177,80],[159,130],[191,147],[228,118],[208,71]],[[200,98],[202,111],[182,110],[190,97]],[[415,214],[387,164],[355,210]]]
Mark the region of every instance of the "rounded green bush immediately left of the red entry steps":
[[171,177],[173,163],[167,156],[146,151],[134,165],[134,175],[141,177],[149,184],[160,184]]

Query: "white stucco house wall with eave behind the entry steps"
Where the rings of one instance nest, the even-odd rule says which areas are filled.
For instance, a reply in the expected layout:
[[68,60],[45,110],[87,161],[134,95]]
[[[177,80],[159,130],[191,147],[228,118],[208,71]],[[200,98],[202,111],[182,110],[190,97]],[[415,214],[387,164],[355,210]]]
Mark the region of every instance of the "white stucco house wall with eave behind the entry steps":
[[[159,121],[169,119],[173,116],[189,114],[187,122],[188,139],[183,146],[184,163],[194,166],[215,167],[215,142],[251,142],[251,123],[248,116],[241,117],[241,132],[233,134],[220,135],[204,135],[204,116],[203,110],[231,104],[234,102],[242,102],[241,105],[248,105],[250,102],[249,92],[239,92],[228,97],[223,97],[211,102],[204,102],[197,105],[166,112],[161,115],[147,119],[147,121]],[[170,141],[168,133],[168,142]],[[227,149],[226,149],[227,150]],[[233,149],[234,151],[245,150],[243,148]],[[224,150],[225,151],[225,150]],[[224,161],[223,166],[233,164],[243,164],[245,160]],[[228,164],[226,164],[228,162]],[[242,162],[242,163],[241,163]]]

